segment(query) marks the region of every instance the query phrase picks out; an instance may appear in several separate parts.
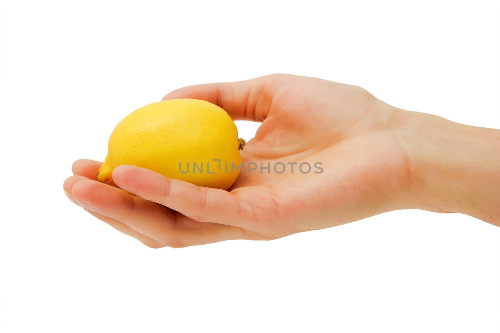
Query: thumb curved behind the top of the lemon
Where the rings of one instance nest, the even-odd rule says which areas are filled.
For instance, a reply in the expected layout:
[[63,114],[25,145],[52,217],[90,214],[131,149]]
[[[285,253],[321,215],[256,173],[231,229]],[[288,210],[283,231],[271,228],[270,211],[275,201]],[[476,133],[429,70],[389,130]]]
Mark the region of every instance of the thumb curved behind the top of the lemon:
[[277,89],[296,78],[290,74],[272,74],[244,81],[206,83],[173,90],[162,100],[203,99],[224,109],[234,120],[263,121]]

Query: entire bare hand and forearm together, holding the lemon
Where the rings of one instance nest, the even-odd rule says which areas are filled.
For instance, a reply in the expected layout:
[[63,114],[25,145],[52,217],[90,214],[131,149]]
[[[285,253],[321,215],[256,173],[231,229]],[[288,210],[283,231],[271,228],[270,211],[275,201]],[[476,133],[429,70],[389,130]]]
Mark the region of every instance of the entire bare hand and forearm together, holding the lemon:
[[[261,122],[240,153],[245,166],[269,162],[271,170],[245,168],[224,191],[130,165],[103,184],[101,162],[75,161],[63,184],[68,199],[148,247],[271,240],[398,209],[463,213],[500,226],[500,130],[290,74],[183,87],[163,100],[173,98],[207,100],[234,120]],[[276,162],[284,173],[272,170]],[[298,171],[303,162],[311,172]],[[316,162],[321,173],[313,172]]]

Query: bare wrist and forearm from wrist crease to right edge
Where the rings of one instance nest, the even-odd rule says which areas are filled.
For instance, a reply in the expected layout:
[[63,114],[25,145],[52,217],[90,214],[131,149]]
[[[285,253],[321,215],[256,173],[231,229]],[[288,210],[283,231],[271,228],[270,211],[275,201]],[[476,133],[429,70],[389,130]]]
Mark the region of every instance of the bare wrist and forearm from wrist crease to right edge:
[[409,160],[411,208],[500,226],[500,130],[405,110],[396,122]]

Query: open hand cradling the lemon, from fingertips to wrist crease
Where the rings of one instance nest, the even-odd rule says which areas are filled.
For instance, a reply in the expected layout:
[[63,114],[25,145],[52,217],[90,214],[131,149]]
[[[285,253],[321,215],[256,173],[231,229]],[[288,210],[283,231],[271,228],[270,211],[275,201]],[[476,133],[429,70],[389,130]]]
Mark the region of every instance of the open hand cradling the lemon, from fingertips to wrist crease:
[[362,88],[273,74],[174,90],[163,99],[203,99],[234,120],[262,122],[241,151],[229,191],[123,165],[114,184],[95,180],[100,162],[78,160],[68,198],[153,248],[229,239],[275,239],[404,208],[409,162],[399,109]]

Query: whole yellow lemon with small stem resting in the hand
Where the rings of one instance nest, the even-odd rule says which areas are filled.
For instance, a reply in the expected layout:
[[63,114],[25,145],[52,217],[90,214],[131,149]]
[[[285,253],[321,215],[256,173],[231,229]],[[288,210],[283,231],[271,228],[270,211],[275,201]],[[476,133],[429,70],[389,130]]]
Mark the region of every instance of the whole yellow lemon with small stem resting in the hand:
[[116,125],[97,180],[111,182],[116,166],[130,164],[226,190],[242,170],[243,145],[231,117],[217,105],[191,98],[151,103]]

